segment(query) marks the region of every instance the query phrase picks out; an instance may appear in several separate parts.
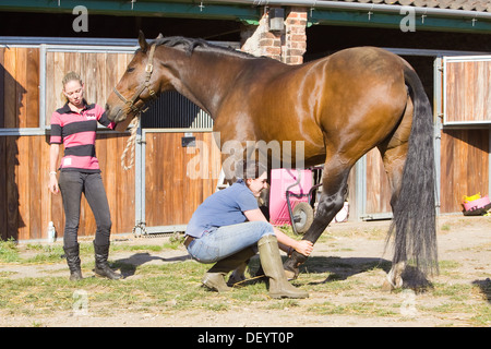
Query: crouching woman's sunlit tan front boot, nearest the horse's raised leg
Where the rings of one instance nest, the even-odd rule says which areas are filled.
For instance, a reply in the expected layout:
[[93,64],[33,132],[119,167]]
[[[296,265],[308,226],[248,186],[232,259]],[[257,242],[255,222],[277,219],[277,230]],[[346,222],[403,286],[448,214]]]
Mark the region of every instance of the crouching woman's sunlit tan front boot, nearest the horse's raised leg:
[[261,265],[270,278],[272,298],[307,298],[309,293],[294,287],[286,278],[279,255],[278,240],[275,236],[262,237],[258,242]]

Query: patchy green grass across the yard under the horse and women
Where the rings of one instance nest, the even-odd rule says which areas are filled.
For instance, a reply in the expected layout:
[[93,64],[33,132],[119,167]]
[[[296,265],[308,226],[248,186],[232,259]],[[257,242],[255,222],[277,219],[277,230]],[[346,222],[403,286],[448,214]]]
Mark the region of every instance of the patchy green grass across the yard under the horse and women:
[[[161,253],[182,249],[178,241],[161,244],[115,243],[112,252],[124,251],[135,254]],[[168,263],[158,261],[132,265],[128,260],[111,260],[111,265],[125,275],[120,281],[92,277],[93,246],[81,243],[85,278],[79,282],[53,274],[44,277],[16,278],[14,272],[0,272],[0,315],[51,316],[70,315],[76,305],[74,298],[81,291],[86,294],[88,312],[94,316],[110,316],[121,313],[179,314],[193,312],[240,312],[242,309],[264,312],[288,311],[291,316],[345,315],[358,317],[388,317],[391,321],[407,321],[402,308],[409,298],[405,291],[384,293],[380,286],[391,263],[379,258],[340,258],[312,256],[301,266],[299,279],[292,284],[311,294],[308,300],[274,300],[267,294],[264,281],[246,282],[229,293],[216,293],[201,286],[201,278],[211,265],[192,260]],[[182,249],[182,253],[185,251]],[[13,241],[0,242],[0,262],[4,264],[26,264],[37,267],[46,263],[60,262],[62,248],[55,244],[31,244],[19,246]],[[62,262],[64,263],[64,261]],[[253,257],[251,269],[259,268],[259,258]],[[489,279],[472,284],[446,281],[458,276],[462,265],[455,261],[441,261],[442,278],[424,293],[415,294],[416,317],[464,318],[470,326],[490,326]],[[253,273],[252,272],[252,273]],[[355,320],[356,321],[356,320]],[[460,320],[459,320],[460,321]],[[459,323],[462,325],[462,321]],[[33,318],[31,326],[41,325]],[[450,320],[450,325],[452,322]]]

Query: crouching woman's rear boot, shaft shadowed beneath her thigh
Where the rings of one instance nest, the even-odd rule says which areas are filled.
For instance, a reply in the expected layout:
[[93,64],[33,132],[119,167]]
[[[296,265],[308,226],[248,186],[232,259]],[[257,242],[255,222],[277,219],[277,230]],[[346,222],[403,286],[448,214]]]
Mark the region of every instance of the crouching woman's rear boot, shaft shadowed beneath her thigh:
[[243,249],[224,260],[218,261],[206,274],[204,275],[202,282],[212,290],[218,292],[229,291],[231,288],[225,282],[225,276],[239,267],[250,257],[255,254],[255,251],[251,248]]

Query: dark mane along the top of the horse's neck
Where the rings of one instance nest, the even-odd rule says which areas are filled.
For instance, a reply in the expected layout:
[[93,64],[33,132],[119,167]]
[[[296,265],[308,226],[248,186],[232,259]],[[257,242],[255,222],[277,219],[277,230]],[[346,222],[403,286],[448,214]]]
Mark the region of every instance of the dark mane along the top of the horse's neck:
[[241,58],[258,58],[255,56],[238,51],[232,47],[224,47],[214,44],[209,44],[203,39],[196,38],[188,38],[182,36],[169,36],[155,39],[152,44],[156,46],[167,46],[167,47],[176,47],[182,48],[188,56],[191,56],[195,48],[201,48],[204,51],[216,52],[216,53],[225,53],[228,56],[237,56]]

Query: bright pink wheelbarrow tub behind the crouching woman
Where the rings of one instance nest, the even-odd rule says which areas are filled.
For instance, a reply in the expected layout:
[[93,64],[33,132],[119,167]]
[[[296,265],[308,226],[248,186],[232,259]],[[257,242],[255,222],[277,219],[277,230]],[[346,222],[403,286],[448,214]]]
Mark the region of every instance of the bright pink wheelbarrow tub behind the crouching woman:
[[[291,186],[288,191],[294,194],[308,195],[312,188],[312,171],[311,170],[297,170],[297,169],[273,169],[271,171],[271,189],[270,189],[270,222],[274,226],[283,226],[290,224],[290,215],[288,213],[288,206],[286,202],[286,191],[288,186],[295,184],[299,180],[299,183]],[[307,202],[308,197],[295,197],[290,195],[291,209],[299,202]]]

